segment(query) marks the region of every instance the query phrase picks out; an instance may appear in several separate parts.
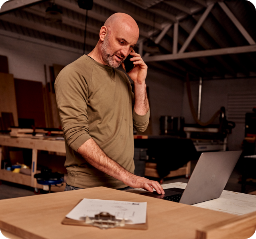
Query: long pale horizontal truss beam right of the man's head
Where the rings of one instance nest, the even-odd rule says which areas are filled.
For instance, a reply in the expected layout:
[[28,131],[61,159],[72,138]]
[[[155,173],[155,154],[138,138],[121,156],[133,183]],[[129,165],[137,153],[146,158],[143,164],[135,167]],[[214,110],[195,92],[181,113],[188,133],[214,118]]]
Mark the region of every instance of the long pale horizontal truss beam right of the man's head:
[[228,55],[228,54],[238,54],[238,53],[249,53],[256,52],[256,45],[242,46],[242,47],[227,47],[221,49],[211,49],[203,51],[192,51],[178,54],[166,54],[166,55],[156,55],[151,57],[143,57],[144,62],[151,61],[169,61],[169,60],[179,60],[187,58],[196,57],[211,57],[217,55]]

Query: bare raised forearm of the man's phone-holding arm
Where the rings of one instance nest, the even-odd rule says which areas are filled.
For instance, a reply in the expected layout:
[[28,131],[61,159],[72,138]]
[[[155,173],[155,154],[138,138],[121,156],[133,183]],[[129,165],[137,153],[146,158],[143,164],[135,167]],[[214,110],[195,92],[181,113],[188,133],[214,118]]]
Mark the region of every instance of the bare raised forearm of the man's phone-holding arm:
[[146,93],[146,84],[134,83],[134,111],[138,115],[145,115],[149,109],[148,97]]

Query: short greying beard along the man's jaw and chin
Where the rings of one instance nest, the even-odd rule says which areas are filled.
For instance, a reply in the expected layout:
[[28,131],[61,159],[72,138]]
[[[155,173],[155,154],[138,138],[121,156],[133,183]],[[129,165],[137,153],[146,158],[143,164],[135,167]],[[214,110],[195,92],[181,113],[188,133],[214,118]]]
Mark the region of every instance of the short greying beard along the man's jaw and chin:
[[[116,60],[116,56],[120,57],[121,61]],[[105,37],[104,41],[102,42],[102,58],[103,61],[110,67],[117,68],[121,65],[121,63],[126,58],[121,53],[112,52],[110,42],[109,42],[109,34]]]

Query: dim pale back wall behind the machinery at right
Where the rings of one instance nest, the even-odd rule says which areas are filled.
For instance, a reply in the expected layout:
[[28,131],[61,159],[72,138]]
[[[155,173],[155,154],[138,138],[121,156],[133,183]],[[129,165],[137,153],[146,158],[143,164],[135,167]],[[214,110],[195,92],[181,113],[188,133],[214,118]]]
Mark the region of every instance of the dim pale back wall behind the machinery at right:
[[[183,104],[183,117],[185,117],[185,123],[195,124],[189,108],[187,88],[185,83],[184,87],[185,94]],[[193,95],[194,107],[197,111],[199,81],[191,82],[191,91]],[[226,111],[228,111],[229,94],[252,91],[256,91],[256,77],[255,79],[216,79],[203,81],[201,97],[201,121],[207,122],[211,118],[211,116],[218,109],[220,109],[221,106],[224,106],[226,108]],[[213,124],[218,124],[218,119],[216,119]],[[229,149],[240,150],[243,139],[244,123],[236,122],[236,127],[232,130],[232,134],[228,138]]]

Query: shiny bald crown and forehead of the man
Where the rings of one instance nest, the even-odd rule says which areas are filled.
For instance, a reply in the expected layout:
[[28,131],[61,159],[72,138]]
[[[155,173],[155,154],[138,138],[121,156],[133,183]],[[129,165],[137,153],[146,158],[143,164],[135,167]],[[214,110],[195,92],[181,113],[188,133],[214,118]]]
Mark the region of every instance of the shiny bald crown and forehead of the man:
[[130,34],[132,37],[139,37],[140,31],[135,20],[128,14],[117,12],[111,15],[105,22],[104,26],[108,28],[108,33],[122,31],[124,34]]

